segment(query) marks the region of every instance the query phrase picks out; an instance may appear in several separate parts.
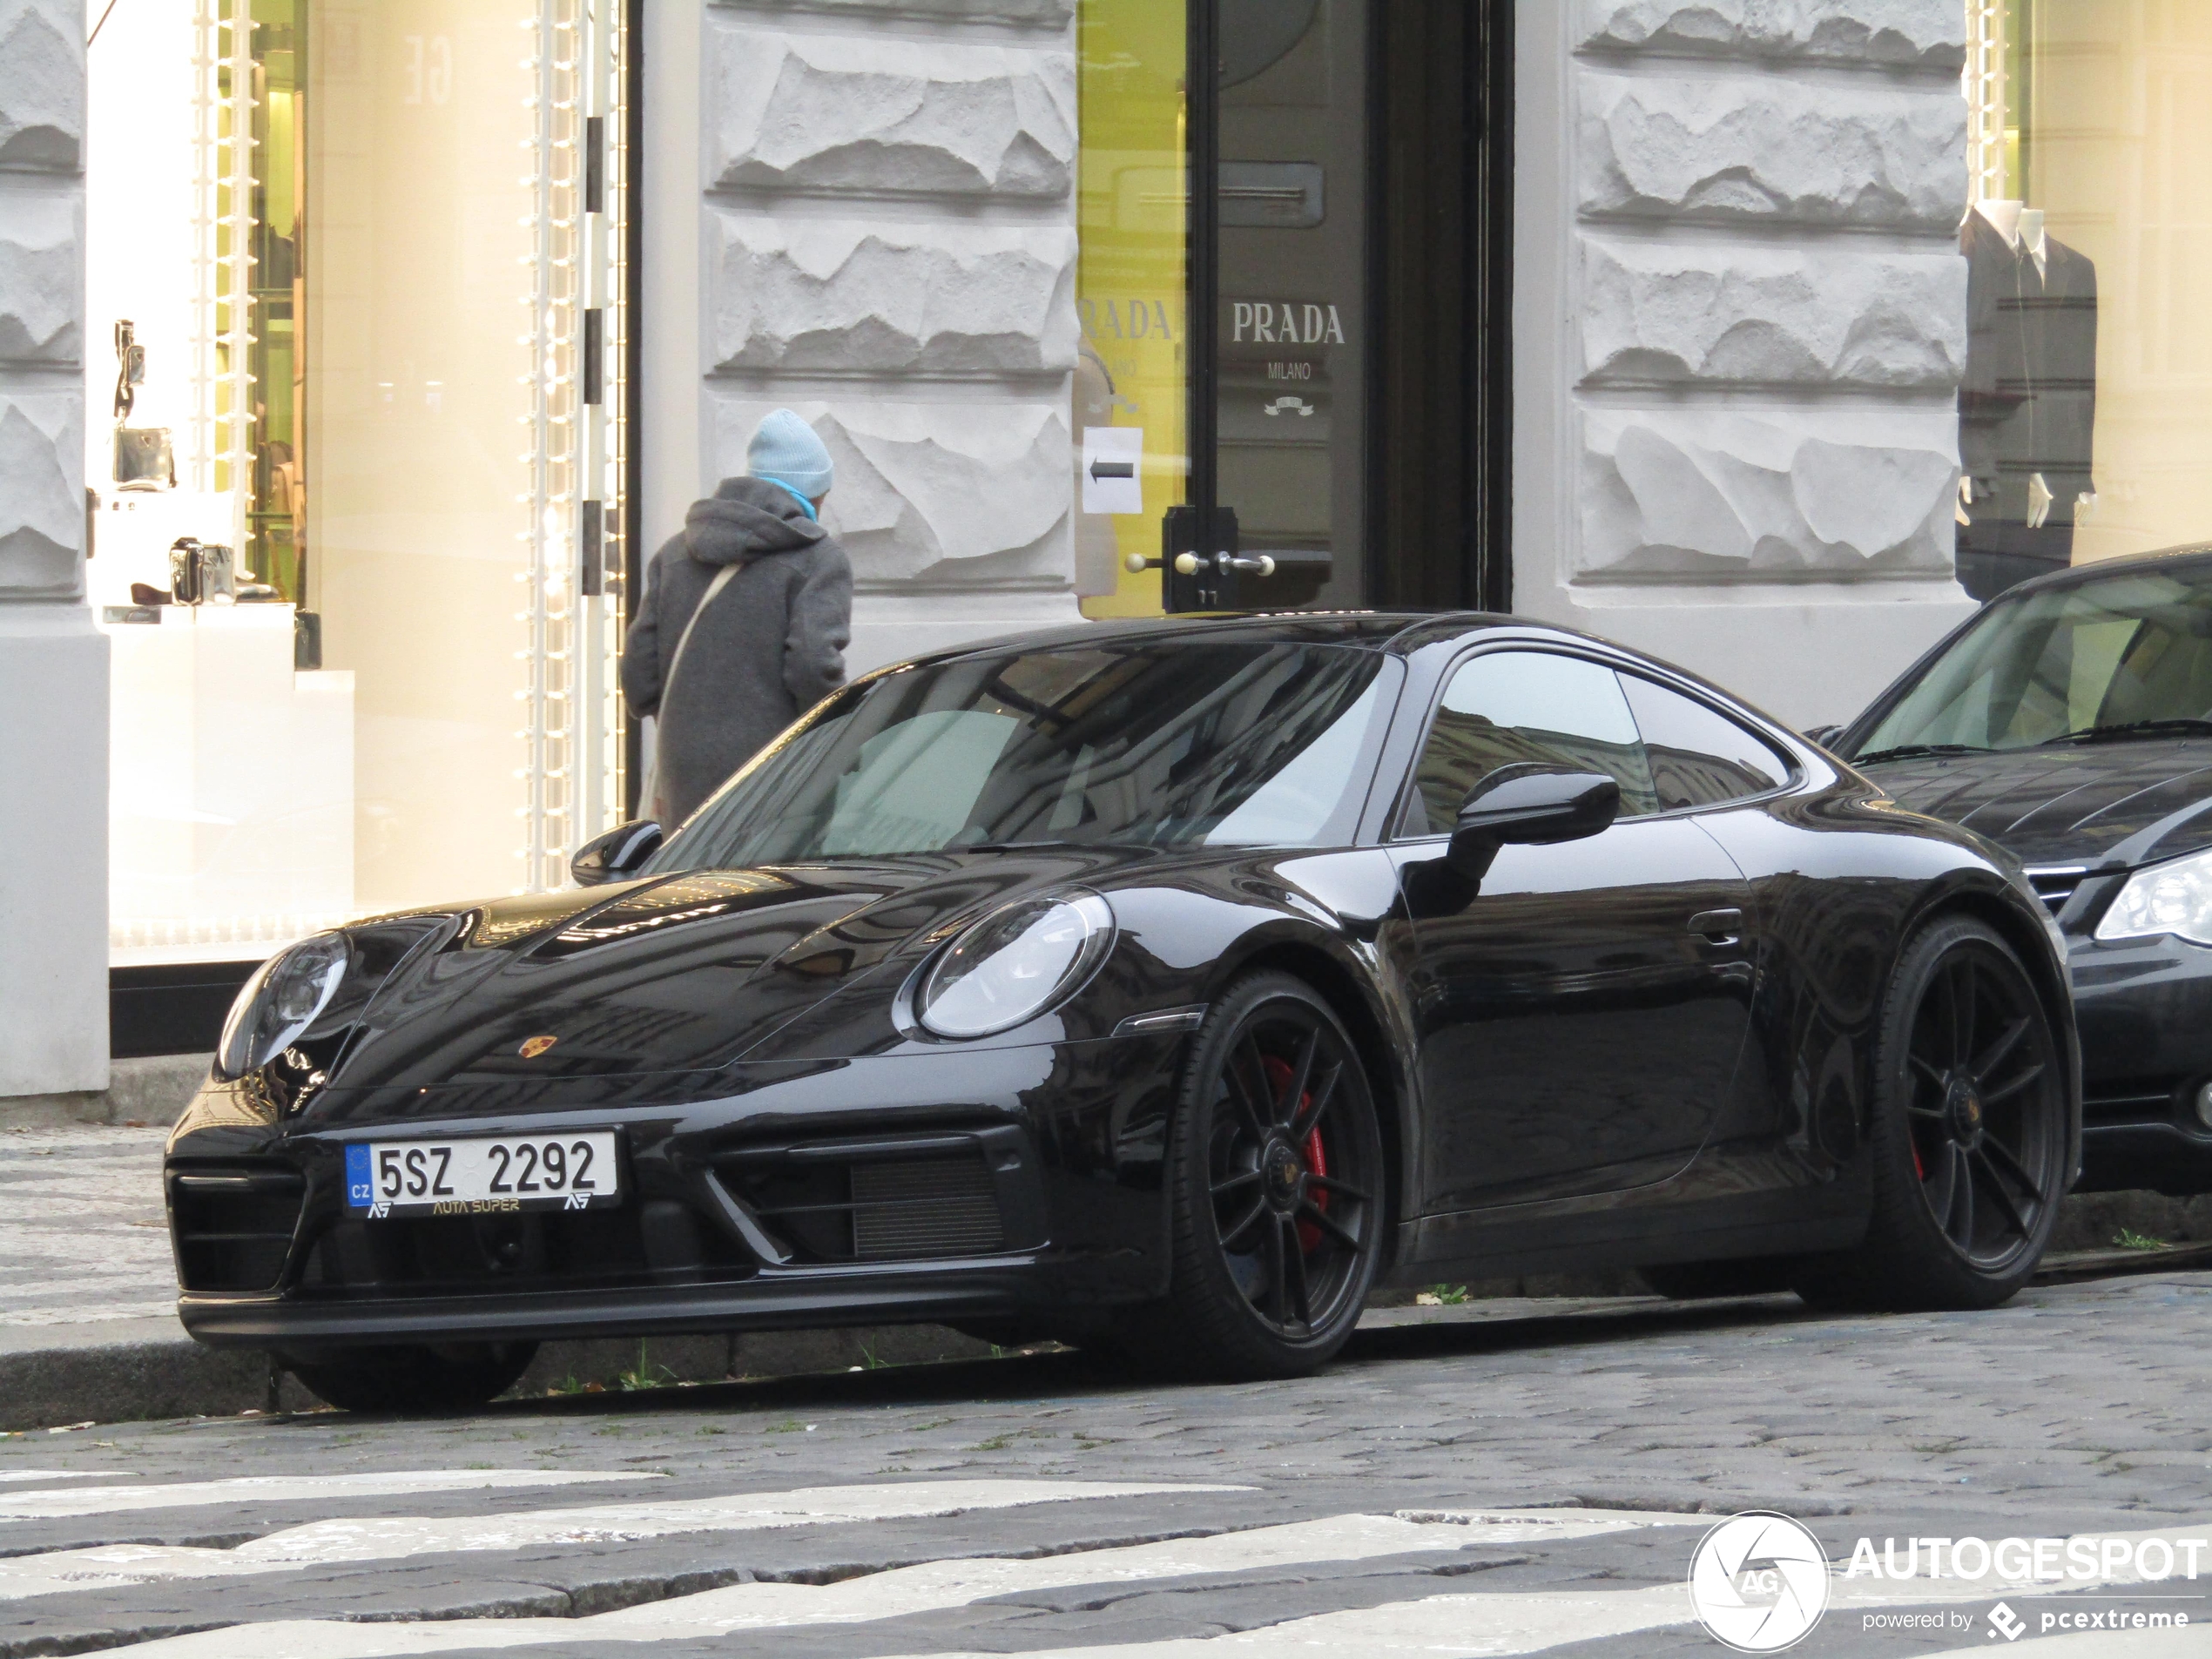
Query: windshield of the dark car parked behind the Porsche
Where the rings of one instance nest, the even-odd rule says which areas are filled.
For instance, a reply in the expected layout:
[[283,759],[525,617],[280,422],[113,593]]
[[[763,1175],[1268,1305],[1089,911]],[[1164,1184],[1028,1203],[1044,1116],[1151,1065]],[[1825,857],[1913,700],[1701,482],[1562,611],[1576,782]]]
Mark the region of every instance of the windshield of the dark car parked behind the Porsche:
[[1854,759],[2194,726],[2212,734],[2212,584],[2132,571],[1989,606]]

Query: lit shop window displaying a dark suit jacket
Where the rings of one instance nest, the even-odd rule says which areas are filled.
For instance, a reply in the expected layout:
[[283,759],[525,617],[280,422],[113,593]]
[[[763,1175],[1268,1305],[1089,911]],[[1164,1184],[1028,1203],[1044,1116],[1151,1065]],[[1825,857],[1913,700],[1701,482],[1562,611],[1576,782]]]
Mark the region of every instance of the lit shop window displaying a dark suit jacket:
[[1960,580],[2212,540],[2212,7],[1969,0]]

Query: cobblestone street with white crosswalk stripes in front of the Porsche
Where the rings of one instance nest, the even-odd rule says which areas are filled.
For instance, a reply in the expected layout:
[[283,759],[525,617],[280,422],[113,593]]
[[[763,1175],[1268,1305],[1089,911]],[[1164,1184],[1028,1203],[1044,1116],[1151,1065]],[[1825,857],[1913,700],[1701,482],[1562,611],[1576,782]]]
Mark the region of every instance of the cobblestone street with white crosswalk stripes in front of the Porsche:
[[[1686,1571],[1743,1509],[1801,1517],[1836,1562],[1794,1652],[1991,1652],[2013,1646],[2000,1601],[2037,1652],[2212,1652],[2203,1579],[2154,1577],[2212,1575],[2185,1542],[2212,1537],[2212,1276],[1971,1316],[1371,1318],[1332,1371],[1276,1385],[1141,1387],[1040,1354],[427,1422],[13,1436],[0,1655],[1721,1652]],[[2135,1533],[2170,1537],[2053,1546],[2088,1582],[1907,1559],[1916,1537]],[[1860,1537],[1918,1575],[1845,1577]]]

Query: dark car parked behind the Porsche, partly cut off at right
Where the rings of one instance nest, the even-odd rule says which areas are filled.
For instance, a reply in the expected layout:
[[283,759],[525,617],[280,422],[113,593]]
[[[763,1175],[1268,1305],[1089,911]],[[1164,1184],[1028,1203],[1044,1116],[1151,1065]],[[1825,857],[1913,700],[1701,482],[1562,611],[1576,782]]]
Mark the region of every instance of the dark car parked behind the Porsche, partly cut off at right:
[[2212,1192],[2212,549],[2011,588],[1834,752],[2015,854],[2064,929],[2081,1188]]

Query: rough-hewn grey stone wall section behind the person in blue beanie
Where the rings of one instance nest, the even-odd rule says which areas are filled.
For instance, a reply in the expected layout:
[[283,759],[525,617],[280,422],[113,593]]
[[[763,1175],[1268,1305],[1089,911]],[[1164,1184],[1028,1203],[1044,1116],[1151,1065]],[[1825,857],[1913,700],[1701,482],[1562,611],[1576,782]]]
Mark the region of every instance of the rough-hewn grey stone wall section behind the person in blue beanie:
[[863,595],[1071,593],[1073,0],[706,11],[710,458],[830,445]]

